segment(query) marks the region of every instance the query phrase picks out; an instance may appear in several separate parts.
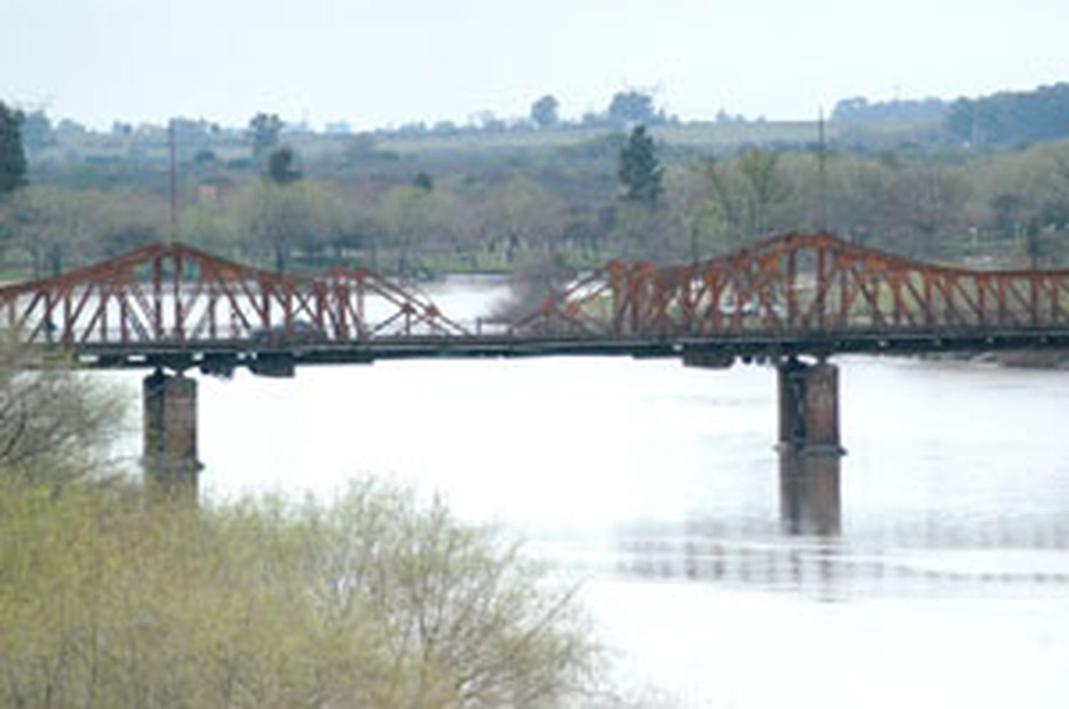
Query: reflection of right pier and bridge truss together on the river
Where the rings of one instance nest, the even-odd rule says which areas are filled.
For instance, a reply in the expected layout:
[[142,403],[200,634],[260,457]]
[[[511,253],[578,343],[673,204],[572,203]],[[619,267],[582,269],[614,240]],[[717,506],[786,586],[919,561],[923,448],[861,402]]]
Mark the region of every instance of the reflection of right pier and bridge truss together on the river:
[[615,537],[623,577],[822,600],[1042,591],[1069,598],[1069,515],[903,517],[841,536],[838,454],[779,451],[779,520],[694,512]]

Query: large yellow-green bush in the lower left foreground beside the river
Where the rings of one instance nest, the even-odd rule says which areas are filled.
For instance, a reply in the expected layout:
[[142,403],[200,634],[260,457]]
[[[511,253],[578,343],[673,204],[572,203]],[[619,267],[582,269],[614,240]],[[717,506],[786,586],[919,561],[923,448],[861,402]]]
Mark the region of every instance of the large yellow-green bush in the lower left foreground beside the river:
[[541,707],[590,678],[571,595],[409,491],[195,511],[56,490],[0,490],[3,706]]

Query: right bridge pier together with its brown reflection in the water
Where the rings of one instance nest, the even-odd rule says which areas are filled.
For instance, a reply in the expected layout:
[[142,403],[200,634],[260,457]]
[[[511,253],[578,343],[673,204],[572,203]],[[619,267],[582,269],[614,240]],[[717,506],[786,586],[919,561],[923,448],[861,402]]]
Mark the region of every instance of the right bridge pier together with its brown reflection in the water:
[[840,528],[839,370],[790,359],[779,375],[779,514],[791,534]]

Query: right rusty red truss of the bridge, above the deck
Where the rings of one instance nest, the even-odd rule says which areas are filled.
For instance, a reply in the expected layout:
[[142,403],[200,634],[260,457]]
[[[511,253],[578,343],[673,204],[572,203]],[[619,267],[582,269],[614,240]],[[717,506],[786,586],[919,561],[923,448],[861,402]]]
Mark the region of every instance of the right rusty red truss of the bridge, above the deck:
[[1067,271],[974,271],[785,234],[691,265],[611,262],[547,297],[516,330],[710,338],[1067,326]]

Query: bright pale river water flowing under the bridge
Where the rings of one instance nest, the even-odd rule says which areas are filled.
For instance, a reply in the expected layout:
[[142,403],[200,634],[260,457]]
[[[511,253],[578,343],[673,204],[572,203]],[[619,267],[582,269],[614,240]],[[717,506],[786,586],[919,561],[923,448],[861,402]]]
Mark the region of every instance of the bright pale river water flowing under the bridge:
[[[432,291],[468,315],[500,293]],[[780,523],[775,370],[667,359],[201,377],[202,494],[439,492],[582,582],[647,706],[1066,706],[1069,372],[834,361],[834,537]]]

